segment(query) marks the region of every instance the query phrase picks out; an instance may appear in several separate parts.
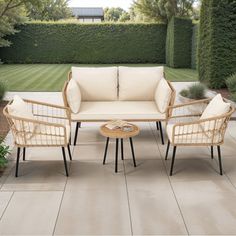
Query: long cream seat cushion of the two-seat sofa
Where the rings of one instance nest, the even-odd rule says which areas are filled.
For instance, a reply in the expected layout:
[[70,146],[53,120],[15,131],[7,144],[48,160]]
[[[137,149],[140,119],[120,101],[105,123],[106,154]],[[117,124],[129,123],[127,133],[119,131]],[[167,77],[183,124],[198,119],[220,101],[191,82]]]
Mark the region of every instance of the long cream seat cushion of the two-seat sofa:
[[114,102],[82,102],[80,111],[71,114],[72,120],[164,120],[165,114],[157,110],[154,101],[114,101]]

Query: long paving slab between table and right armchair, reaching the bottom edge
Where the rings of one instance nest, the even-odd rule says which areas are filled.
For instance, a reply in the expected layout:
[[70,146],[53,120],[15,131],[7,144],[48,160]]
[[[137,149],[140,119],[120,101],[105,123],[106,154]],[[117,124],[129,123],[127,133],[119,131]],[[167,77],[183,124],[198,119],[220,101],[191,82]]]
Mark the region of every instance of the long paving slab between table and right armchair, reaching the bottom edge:
[[187,234],[162,161],[143,160],[130,169],[126,165],[134,235]]

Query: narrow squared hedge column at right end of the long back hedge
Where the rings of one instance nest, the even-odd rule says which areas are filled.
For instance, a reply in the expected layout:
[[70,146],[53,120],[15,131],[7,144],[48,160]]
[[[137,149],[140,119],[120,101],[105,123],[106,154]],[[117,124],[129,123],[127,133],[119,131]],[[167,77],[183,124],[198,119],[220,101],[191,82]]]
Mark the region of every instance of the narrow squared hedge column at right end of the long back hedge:
[[191,67],[192,20],[173,17],[167,27],[166,64]]

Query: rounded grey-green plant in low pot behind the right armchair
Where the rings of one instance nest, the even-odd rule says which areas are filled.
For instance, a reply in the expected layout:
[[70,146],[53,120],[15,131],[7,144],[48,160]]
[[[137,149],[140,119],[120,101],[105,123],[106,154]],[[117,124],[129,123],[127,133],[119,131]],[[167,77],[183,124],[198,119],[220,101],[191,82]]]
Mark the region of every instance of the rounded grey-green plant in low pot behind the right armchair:
[[206,98],[207,88],[205,85],[196,83],[190,85],[187,89],[183,89],[179,93],[179,99],[181,102],[191,102]]

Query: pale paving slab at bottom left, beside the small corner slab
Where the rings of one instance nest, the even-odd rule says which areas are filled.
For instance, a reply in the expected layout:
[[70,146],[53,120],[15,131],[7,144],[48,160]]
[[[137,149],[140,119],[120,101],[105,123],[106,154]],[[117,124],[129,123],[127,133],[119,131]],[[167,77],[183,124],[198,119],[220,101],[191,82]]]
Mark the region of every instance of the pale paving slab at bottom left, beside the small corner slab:
[[0,221],[0,235],[52,235],[62,192],[15,192]]

